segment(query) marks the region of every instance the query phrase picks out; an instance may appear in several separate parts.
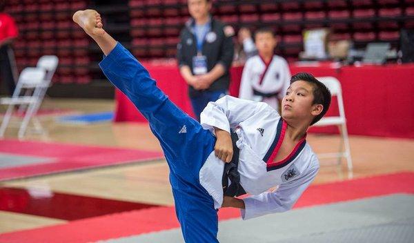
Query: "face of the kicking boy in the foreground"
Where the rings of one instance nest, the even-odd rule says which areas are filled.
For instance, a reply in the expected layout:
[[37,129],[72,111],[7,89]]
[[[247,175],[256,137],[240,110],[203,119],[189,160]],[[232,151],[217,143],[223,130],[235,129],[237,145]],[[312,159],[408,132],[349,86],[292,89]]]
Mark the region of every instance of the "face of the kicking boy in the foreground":
[[321,104],[313,104],[313,85],[302,80],[293,82],[282,100],[283,119],[301,119],[311,123],[322,109]]

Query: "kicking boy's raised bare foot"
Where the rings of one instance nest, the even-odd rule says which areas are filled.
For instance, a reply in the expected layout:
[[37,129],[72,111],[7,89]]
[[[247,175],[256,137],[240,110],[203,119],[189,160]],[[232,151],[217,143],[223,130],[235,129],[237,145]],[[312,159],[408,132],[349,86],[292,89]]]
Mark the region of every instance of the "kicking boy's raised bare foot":
[[102,28],[101,14],[95,10],[79,10],[73,14],[72,19],[75,23],[79,24],[88,35],[105,34],[105,30]]

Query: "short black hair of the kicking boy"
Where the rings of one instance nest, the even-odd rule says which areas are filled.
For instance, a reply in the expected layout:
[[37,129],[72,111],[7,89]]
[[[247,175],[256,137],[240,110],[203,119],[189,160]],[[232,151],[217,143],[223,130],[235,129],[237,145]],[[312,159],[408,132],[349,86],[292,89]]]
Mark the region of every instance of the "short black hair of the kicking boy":
[[317,115],[315,118],[313,118],[313,121],[311,122],[311,125],[317,123],[325,114],[326,111],[328,111],[329,105],[331,104],[331,91],[329,91],[328,88],[322,82],[318,81],[308,72],[299,72],[296,75],[293,75],[290,78],[290,84],[293,84],[295,81],[306,81],[313,86],[313,105],[314,104],[322,104],[324,106],[324,109],[322,110],[322,113]]

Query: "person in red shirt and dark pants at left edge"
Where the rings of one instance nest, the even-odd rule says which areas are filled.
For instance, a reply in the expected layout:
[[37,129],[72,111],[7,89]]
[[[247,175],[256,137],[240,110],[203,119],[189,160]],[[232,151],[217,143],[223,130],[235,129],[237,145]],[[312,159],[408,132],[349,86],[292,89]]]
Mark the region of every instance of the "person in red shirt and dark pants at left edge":
[[10,95],[17,81],[16,60],[12,42],[17,38],[18,30],[14,19],[4,12],[6,1],[0,0],[0,78],[8,84]]

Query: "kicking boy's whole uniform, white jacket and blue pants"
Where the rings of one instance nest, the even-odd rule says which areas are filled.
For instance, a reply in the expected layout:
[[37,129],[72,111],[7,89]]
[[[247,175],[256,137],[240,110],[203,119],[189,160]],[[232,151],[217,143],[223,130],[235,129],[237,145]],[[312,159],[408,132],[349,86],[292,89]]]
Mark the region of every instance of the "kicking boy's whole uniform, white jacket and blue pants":
[[[273,162],[286,123],[263,102],[226,96],[210,102],[201,125],[157,88],[148,71],[120,43],[99,64],[108,79],[148,119],[170,168],[177,218],[186,242],[218,242],[217,208],[223,202],[224,162],[215,157],[214,128],[236,128],[240,184],[250,197],[244,220],[290,209],[312,182],[319,163],[302,139],[293,152]],[[279,186],[277,191],[269,188]]]

